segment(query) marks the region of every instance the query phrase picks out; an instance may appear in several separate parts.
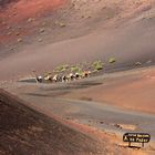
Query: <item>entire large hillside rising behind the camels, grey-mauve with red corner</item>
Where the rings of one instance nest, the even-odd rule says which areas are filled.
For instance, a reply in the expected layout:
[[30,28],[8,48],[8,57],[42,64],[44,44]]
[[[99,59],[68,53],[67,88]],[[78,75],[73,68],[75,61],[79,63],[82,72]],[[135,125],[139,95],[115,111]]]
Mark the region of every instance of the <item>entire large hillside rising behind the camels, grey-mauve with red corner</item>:
[[[19,0],[0,9],[1,80],[101,59],[154,64],[154,0]],[[115,58],[116,63],[108,64]]]

